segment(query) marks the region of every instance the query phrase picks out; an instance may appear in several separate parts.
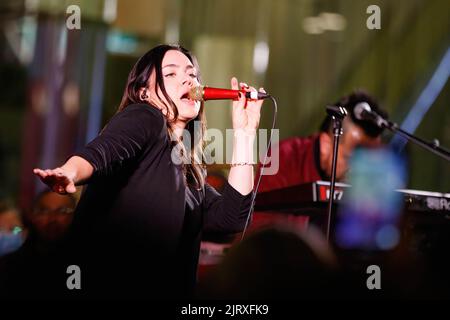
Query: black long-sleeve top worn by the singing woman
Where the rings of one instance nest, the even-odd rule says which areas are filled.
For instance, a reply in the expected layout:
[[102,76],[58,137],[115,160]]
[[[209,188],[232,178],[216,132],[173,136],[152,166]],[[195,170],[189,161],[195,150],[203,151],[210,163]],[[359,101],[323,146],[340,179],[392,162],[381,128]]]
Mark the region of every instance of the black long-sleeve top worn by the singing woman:
[[[85,291],[183,296],[195,281],[203,231],[243,229],[250,195],[186,186],[161,112],[127,106],[76,155],[94,167],[70,232]],[[83,268],[82,268],[83,269]]]

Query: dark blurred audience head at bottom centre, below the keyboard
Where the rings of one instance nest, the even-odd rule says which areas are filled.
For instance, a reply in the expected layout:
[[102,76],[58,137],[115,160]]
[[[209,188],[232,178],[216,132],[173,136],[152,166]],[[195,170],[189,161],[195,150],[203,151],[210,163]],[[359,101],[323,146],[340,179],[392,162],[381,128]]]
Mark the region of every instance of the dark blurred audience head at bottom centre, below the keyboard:
[[233,246],[198,293],[213,299],[319,297],[332,286],[336,267],[334,253],[314,228],[271,227]]

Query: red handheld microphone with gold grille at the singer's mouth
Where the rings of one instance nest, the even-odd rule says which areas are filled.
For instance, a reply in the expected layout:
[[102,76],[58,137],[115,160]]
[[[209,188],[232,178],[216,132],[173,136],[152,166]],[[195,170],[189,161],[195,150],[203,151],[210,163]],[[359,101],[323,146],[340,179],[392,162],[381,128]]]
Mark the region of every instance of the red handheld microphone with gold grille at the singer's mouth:
[[246,92],[244,90],[219,89],[206,86],[198,86],[193,87],[189,91],[189,98],[197,101],[223,100],[223,99],[238,100],[240,92],[245,94],[247,99],[251,100],[262,100],[270,97],[270,95],[263,92],[256,92],[256,91]]

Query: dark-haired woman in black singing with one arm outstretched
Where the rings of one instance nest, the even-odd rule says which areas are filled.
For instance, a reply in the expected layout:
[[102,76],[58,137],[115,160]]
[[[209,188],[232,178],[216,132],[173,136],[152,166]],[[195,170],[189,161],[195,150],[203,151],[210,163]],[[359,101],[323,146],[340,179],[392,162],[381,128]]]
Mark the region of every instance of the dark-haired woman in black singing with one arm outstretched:
[[[62,166],[34,169],[58,193],[87,184],[66,252],[67,263],[81,270],[76,294],[189,296],[202,232],[243,230],[253,189],[249,150],[262,101],[241,94],[232,103],[233,160],[219,194],[205,182],[202,166],[204,106],[189,98],[199,84],[189,51],[172,45],[151,49],[131,70],[118,111],[100,135]],[[236,78],[231,87],[256,91],[239,86]]]

